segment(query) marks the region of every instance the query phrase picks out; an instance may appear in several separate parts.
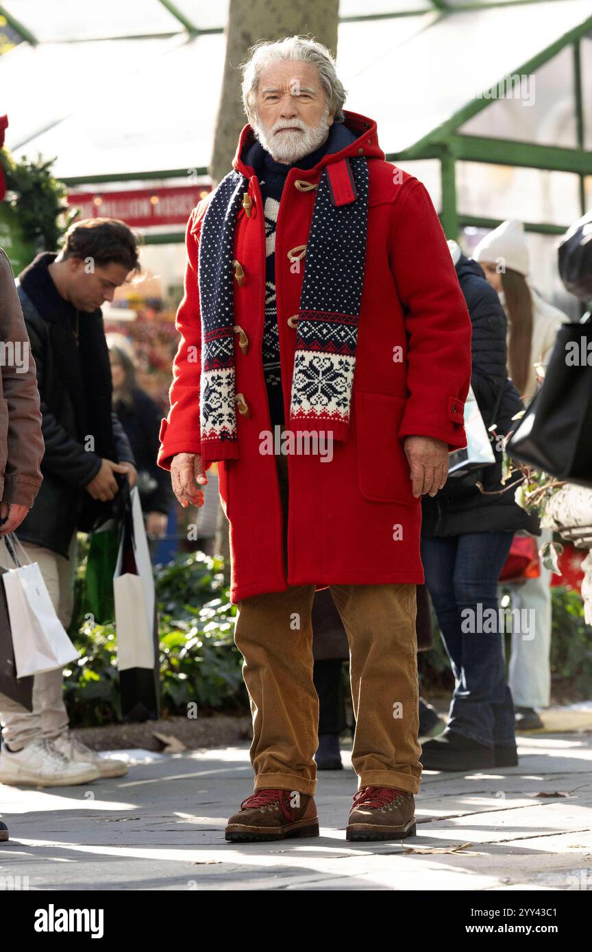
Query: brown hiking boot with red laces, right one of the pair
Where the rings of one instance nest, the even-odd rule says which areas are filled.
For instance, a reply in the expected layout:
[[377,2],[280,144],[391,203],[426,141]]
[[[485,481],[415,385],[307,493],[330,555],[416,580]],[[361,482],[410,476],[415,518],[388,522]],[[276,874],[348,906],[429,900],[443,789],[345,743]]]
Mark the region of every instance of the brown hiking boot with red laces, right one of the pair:
[[363,786],[354,795],[346,840],[404,840],[415,835],[415,801],[408,790]]

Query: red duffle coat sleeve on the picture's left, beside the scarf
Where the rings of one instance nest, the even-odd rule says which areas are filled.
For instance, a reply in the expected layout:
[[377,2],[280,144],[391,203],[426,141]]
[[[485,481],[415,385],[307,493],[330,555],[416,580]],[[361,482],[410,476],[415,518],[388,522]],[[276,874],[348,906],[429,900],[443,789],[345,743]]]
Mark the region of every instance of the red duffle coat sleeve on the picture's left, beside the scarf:
[[[185,293],[175,327],[181,333],[177,353],[172,362],[172,384],[168,390],[170,409],[161,422],[160,451],[157,463],[170,469],[177,453],[201,453],[200,441],[200,380],[202,369],[202,327],[197,285],[199,232],[202,203],[193,209],[186,231],[187,265]],[[208,469],[211,463],[206,463]]]

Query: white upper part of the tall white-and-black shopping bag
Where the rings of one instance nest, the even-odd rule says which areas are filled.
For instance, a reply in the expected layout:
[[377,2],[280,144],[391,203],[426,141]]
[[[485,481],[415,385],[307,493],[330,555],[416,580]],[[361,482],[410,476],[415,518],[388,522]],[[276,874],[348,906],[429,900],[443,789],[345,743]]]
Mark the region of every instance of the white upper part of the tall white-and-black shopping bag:
[[135,573],[124,572],[124,547],[128,532],[122,532],[117,564],[113,574],[115,625],[117,628],[117,667],[154,667],[154,576],[138,487],[129,493],[132,545]]

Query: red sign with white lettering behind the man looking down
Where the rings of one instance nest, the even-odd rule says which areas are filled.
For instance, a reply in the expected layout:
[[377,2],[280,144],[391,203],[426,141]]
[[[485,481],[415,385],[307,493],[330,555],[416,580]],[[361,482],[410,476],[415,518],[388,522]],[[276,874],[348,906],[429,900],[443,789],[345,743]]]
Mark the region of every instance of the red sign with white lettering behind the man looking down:
[[129,191],[70,191],[78,218],[119,218],[129,228],[187,225],[191,210],[210,191],[205,185],[137,188]]

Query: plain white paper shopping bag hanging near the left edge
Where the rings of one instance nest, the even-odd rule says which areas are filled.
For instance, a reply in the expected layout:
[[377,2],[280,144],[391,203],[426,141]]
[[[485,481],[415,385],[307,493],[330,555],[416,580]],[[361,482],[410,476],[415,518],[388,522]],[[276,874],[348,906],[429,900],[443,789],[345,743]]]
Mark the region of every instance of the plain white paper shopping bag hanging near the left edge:
[[69,640],[51,604],[39,565],[21,565],[12,543],[16,542],[24,558],[27,552],[15,536],[5,536],[7,549],[17,565],[2,575],[9,607],[12,644],[17,678],[53,671],[80,657]]

